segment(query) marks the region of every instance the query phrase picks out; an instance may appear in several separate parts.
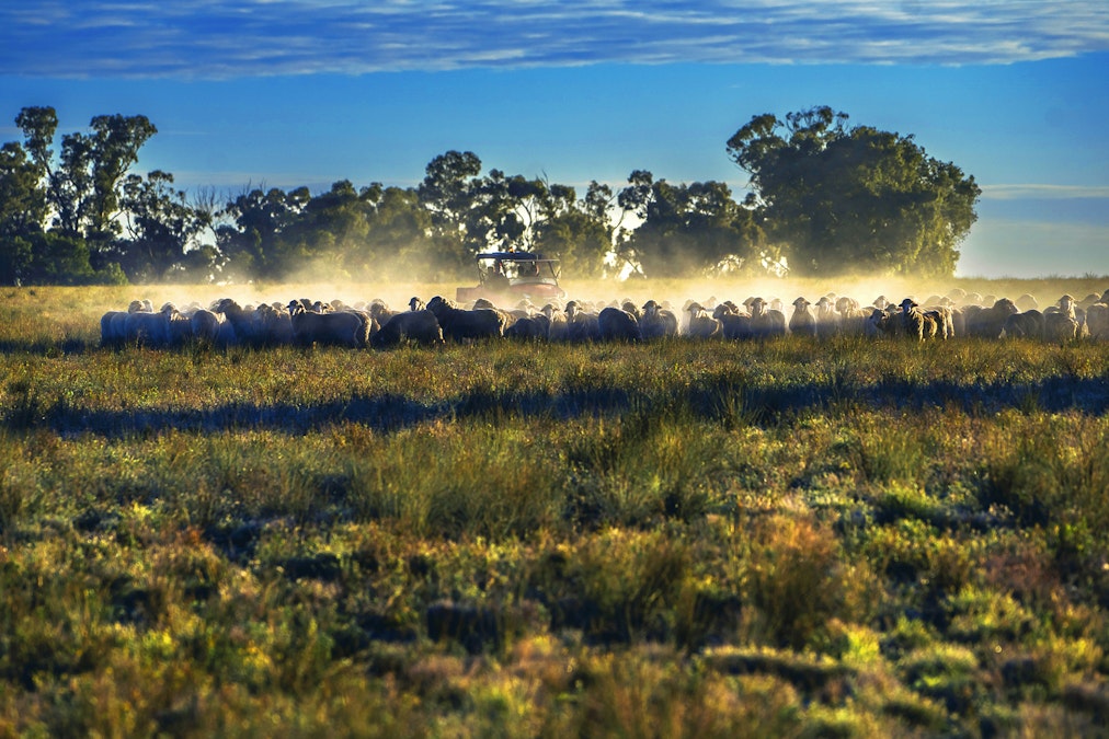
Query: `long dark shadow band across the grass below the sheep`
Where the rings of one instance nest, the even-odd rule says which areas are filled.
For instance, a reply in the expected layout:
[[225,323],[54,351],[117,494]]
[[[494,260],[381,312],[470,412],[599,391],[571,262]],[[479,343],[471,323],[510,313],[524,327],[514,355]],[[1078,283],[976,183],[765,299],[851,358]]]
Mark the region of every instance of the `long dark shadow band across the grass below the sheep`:
[[722,380],[684,388],[679,393],[611,389],[567,389],[562,392],[495,392],[477,390],[457,398],[425,403],[400,394],[355,396],[307,403],[227,403],[199,410],[99,411],[70,406],[65,400],[43,402],[33,394],[14,399],[0,411],[0,425],[10,430],[51,430],[62,435],[92,433],[109,438],[156,434],[170,430],[214,433],[234,430],[277,430],[305,433],[321,427],[364,424],[380,432],[437,420],[470,418],[549,418],[568,420],[619,414],[630,410],[676,410],[694,418],[732,424],[769,425],[783,417],[838,407],[924,410],[955,406],[973,413],[1005,409],[1024,412],[1109,412],[1109,381],[1103,378],[1049,378],[1010,384],[915,383],[884,380],[874,386],[792,387],[737,386]]

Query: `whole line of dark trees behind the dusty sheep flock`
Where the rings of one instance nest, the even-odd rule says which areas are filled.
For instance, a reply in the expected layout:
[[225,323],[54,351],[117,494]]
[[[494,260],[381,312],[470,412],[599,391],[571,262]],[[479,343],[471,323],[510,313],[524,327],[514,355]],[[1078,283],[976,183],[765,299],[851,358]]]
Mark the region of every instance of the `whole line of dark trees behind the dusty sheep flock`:
[[637,170],[627,185],[574,187],[482,174],[472,152],[428,163],[415,187],[336,182],[186,193],[132,170],[157,133],[143,115],[99,115],[58,134],[52,107],[16,117],[0,148],[0,281],[123,284],[293,277],[439,280],[487,250],[540,252],[576,278],[615,273],[954,274],[980,189],[913,136],[814,107],[756,115],[726,142],[750,176],[675,184]]

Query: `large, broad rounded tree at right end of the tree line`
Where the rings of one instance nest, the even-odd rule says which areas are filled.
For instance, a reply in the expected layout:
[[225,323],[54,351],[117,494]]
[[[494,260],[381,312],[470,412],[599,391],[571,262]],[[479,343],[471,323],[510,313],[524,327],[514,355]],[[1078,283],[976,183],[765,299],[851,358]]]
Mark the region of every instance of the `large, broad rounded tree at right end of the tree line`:
[[954,274],[977,218],[973,176],[927,155],[912,135],[821,106],[785,121],[756,115],[728,141],[751,176],[751,205],[801,276],[851,271]]

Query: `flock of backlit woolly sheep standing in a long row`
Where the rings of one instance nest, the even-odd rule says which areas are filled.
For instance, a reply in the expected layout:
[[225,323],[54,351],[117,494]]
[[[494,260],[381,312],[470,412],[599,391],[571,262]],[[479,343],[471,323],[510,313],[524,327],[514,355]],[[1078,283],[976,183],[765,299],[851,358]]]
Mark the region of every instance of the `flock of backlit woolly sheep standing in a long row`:
[[216,346],[330,345],[386,348],[400,343],[436,345],[508,338],[531,341],[647,341],[685,336],[695,339],[757,339],[838,333],[908,337],[919,341],[960,336],[1021,337],[1048,341],[1109,339],[1109,290],[1076,300],[1069,295],[1039,309],[1032,296],[1016,300],[953,290],[917,304],[893,302],[879,296],[869,305],[830,294],[815,304],[797,298],[788,310],[781,300],[751,297],[742,304],[688,301],[675,308],[648,300],[594,304],[570,300],[542,308],[523,300],[502,309],[487,300],[460,306],[436,296],[426,305],[413,298],[404,310],[384,301],[348,306],[308,299],[240,306],[231,298],[202,307],[167,302],[155,310],[135,300],[100,321],[104,346],[141,343],[170,347],[187,342]]

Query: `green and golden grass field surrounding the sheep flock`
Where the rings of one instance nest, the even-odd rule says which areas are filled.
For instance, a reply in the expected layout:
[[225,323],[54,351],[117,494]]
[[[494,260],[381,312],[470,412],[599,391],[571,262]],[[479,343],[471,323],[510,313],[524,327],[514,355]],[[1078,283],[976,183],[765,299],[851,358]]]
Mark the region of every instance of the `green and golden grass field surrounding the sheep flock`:
[[217,295],[3,291],[0,736],[1106,731],[1109,343],[98,346]]

